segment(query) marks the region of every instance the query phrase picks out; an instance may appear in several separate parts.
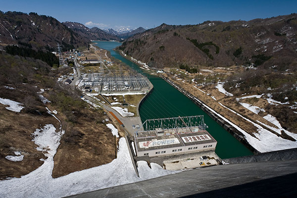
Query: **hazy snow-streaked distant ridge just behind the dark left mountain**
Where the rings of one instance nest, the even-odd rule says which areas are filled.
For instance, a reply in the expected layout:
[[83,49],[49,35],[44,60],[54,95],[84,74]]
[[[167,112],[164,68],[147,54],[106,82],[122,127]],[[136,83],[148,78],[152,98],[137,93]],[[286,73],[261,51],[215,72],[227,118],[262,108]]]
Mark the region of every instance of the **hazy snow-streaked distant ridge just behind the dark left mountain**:
[[119,40],[119,38],[115,35],[108,34],[97,27],[93,27],[90,29],[81,23],[69,21],[63,22],[63,24],[72,31],[76,32],[81,37],[88,40]]

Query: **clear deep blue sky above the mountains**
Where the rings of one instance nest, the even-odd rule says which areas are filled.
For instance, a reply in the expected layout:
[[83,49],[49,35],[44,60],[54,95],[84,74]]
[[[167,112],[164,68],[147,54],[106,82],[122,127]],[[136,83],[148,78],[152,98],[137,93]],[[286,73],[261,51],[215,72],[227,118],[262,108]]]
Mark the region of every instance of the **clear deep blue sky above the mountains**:
[[251,20],[297,12],[297,0],[1,0],[1,11],[37,12],[88,27],[146,29],[162,23]]

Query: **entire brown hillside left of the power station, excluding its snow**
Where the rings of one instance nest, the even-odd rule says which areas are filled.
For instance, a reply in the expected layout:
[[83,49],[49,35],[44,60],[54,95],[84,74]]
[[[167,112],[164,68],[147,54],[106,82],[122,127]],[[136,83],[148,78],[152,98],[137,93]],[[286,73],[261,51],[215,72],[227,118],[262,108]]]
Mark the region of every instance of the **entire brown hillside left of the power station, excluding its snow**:
[[[53,176],[108,163],[115,158],[115,140],[103,120],[108,116],[102,109],[93,109],[80,99],[80,93],[56,82],[56,77],[71,68],[52,70],[38,59],[11,56],[0,51],[0,98],[23,103],[21,112],[13,112],[0,104],[0,179],[20,177],[43,164],[45,155],[36,150],[32,133],[53,124],[58,132],[60,123],[48,114],[46,107],[57,110],[65,134],[54,157]],[[10,88],[10,89],[9,89]],[[38,92],[51,103],[44,104]],[[110,120],[110,118],[108,118]],[[20,151],[22,161],[10,161],[7,155]]]

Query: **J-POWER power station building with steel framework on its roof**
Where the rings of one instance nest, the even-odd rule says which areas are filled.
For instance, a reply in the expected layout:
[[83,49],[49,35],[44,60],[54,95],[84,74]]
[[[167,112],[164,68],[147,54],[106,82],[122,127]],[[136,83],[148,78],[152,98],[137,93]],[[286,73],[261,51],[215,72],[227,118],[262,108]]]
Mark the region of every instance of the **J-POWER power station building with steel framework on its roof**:
[[137,156],[165,156],[214,151],[217,142],[205,130],[203,115],[146,120],[135,132]]

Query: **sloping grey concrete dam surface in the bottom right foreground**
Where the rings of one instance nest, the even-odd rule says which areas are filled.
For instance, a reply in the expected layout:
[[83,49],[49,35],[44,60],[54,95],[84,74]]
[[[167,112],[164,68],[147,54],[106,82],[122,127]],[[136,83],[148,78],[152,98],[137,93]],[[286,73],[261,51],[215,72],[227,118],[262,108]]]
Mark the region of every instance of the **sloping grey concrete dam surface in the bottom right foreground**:
[[297,196],[296,178],[297,160],[230,164],[184,171],[72,198],[291,198]]

